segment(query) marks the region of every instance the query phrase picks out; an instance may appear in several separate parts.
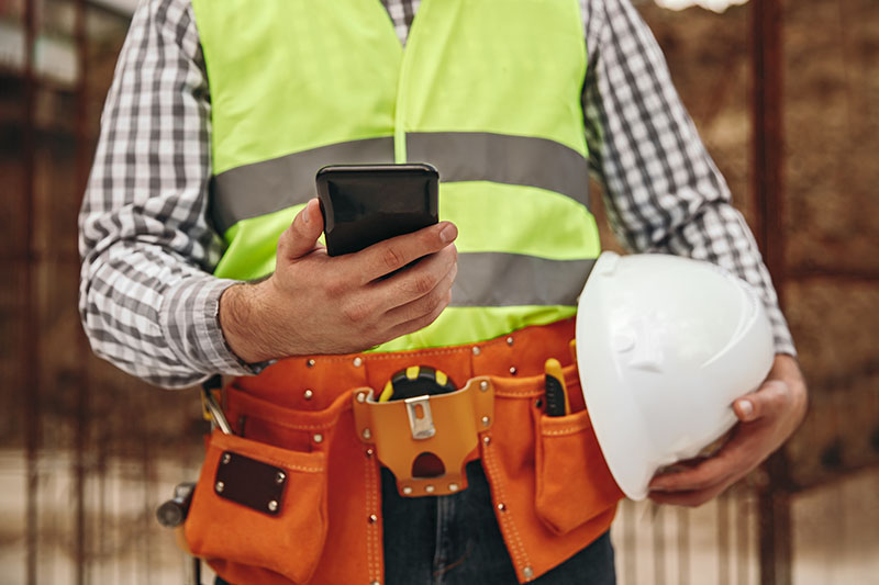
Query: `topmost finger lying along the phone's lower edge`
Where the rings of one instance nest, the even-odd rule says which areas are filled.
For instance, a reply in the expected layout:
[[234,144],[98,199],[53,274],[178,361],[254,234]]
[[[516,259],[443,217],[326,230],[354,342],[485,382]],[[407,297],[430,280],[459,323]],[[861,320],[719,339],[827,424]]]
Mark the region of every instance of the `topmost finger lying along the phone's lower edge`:
[[450,222],[419,229],[385,241],[379,241],[353,255],[364,283],[371,282],[424,256],[438,252],[458,237],[458,228]]

